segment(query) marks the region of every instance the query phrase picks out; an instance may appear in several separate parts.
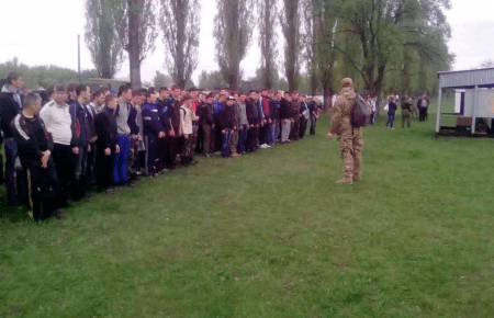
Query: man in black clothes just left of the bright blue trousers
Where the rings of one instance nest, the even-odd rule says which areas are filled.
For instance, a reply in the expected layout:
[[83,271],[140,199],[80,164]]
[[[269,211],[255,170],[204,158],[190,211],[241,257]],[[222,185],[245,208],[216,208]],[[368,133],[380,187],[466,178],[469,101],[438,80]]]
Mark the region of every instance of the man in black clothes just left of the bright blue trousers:
[[97,161],[98,161],[98,191],[106,191],[113,181],[113,161],[115,154],[120,152],[119,130],[116,126],[115,110],[119,105],[115,95],[104,99],[104,107],[94,118],[94,127],[98,135]]

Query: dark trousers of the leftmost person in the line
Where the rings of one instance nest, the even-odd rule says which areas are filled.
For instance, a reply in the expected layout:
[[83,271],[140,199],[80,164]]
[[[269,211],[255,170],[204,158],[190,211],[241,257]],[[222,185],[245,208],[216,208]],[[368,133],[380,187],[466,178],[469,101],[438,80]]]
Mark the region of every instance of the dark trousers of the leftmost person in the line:
[[8,205],[21,206],[29,201],[27,179],[18,157],[18,143],[14,138],[5,138],[5,189]]

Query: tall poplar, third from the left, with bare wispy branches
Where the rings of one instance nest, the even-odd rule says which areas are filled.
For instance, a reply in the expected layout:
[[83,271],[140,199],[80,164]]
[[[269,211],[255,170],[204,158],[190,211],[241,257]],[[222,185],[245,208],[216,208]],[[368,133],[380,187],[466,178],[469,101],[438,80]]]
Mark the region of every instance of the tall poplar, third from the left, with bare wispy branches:
[[199,0],[161,0],[162,42],[169,52],[165,63],[182,88],[198,67],[200,11]]

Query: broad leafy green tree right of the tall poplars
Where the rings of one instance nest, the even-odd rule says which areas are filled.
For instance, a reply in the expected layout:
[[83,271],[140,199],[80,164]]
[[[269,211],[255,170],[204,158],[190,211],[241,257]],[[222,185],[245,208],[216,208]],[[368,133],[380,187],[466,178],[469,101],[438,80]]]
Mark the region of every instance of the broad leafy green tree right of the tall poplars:
[[338,32],[356,35],[360,54],[345,45],[334,48],[361,75],[371,94],[381,92],[386,72],[393,71],[392,55],[404,45],[430,61],[452,60],[446,45],[450,27],[442,12],[450,8],[449,0],[339,0],[335,7],[335,16],[341,20]]

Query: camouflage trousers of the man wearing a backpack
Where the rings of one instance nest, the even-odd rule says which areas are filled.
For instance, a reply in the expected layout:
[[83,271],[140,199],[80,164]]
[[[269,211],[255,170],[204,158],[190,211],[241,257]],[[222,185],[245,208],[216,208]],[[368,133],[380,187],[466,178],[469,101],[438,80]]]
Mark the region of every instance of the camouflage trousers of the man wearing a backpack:
[[347,128],[339,135],[339,148],[346,178],[360,179],[363,148],[362,129]]

